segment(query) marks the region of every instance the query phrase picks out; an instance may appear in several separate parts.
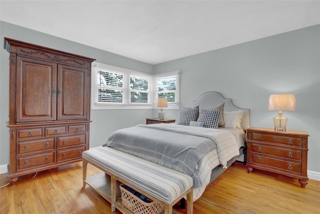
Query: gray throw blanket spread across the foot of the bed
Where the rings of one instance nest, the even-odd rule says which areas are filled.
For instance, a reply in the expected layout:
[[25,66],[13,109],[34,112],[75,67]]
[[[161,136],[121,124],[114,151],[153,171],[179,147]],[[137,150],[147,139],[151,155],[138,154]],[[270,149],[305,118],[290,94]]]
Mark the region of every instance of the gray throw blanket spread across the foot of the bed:
[[215,142],[207,137],[155,129],[150,125],[117,130],[102,146],[142,153],[176,165],[179,171],[193,178],[195,188],[201,185],[198,164],[207,152],[216,148]]

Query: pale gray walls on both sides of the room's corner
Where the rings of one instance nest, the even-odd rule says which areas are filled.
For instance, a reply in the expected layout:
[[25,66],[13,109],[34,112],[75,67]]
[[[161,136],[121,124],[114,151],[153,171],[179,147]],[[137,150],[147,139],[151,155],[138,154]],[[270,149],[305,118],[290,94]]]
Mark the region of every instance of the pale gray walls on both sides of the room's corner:
[[[273,127],[276,111],[267,110],[268,96],[293,93],[297,110],[283,112],[287,129],[307,131],[308,170],[320,172],[320,25],[251,41],[182,59],[148,65],[119,55],[0,22],[0,165],[8,163],[8,53],[3,37],[96,59],[96,62],[159,74],[180,70],[180,102],[206,91],[218,91],[242,108],[251,109],[251,126]],[[90,146],[101,145],[114,130],[145,123],[158,110],[91,110]],[[178,110],[165,110],[178,118]]]

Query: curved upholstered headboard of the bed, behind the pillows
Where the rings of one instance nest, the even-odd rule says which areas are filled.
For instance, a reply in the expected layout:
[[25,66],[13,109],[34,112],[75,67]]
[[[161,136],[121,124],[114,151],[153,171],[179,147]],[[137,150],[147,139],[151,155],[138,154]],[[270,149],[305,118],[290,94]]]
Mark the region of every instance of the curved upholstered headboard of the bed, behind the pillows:
[[221,103],[224,103],[223,111],[243,111],[241,127],[243,130],[250,127],[250,109],[235,106],[231,99],[224,98],[219,92],[209,91],[201,94],[197,100],[192,101],[191,108],[199,106],[201,109],[210,106],[217,106]]

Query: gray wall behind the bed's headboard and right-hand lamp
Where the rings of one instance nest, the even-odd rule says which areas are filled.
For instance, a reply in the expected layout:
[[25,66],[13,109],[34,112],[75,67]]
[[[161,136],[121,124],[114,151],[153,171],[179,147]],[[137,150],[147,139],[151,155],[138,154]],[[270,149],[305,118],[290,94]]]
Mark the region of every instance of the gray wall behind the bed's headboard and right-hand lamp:
[[[320,172],[320,25],[153,66],[153,73],[180,70],[180,107],[206,91],[220,92],[249,108],[251,126],[273,128],[270,94],[292,93],[296,111],[285,111],[287,129],[307,131],[308,170]],[[165,110],[178,117],[178,111]]]

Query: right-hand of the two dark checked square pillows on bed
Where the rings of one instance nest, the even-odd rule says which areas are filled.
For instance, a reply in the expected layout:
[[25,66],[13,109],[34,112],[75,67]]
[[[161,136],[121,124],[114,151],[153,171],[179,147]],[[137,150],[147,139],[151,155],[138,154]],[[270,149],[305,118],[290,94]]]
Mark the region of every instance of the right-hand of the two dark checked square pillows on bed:
[[218,128],[221,114],[221,110],[200,109],[197,122],[203,122],[203,127],[206,128]]

